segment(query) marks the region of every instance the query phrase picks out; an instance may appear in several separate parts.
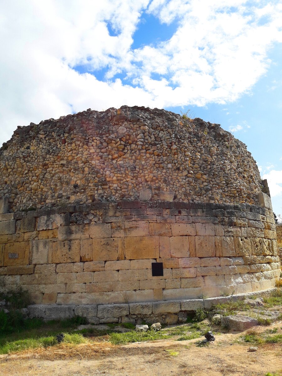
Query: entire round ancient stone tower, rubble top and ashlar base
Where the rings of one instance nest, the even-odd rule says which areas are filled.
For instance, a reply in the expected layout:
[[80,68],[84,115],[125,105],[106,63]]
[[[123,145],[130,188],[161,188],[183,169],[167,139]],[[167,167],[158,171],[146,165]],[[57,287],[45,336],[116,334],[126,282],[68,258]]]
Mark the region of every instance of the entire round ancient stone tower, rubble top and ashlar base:
[[31,317],[181,322],[279,277],[270,197],[219,124],[89,109],[18,127],[0,171],[1,288]]

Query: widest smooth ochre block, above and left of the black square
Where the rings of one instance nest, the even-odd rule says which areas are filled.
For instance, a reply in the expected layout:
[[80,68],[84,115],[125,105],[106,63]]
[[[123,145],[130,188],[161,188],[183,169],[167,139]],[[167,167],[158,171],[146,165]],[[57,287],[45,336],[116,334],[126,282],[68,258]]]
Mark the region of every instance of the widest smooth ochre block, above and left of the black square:
[[159,237],[125,238],[124,246],[127,260],[159,258]]

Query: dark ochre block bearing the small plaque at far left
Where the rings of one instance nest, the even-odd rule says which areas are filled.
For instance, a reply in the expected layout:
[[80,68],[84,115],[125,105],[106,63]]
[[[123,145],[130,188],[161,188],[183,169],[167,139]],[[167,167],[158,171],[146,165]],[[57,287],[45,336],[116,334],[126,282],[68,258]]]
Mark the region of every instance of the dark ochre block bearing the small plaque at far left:
[[[20,241],[18,243],[8,243],[4,248],[4,266],[27,265],[29,264],[29,241]],[[11,253],[17,255],[17,258],[11,257]]]

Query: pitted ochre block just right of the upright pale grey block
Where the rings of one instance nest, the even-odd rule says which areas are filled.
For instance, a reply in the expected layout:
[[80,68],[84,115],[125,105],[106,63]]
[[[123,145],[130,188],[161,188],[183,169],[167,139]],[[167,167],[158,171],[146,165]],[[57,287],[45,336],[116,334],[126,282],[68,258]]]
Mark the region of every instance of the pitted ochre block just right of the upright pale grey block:
[[49,244],[49,254],[54,264],[80,261],[80,241],[54,241]]

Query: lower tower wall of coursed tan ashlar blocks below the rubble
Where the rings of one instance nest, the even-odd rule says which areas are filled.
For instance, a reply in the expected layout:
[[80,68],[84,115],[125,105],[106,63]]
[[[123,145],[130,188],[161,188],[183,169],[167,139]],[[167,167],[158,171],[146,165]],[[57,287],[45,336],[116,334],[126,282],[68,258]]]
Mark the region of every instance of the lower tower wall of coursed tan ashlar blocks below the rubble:
[[[274,287],[274,217],[260,195],[264,207],[121,201],[2,214],[2,290],[21,285],[33,303],[79,306]],[[152,276],[152,262],[163,276]]]

